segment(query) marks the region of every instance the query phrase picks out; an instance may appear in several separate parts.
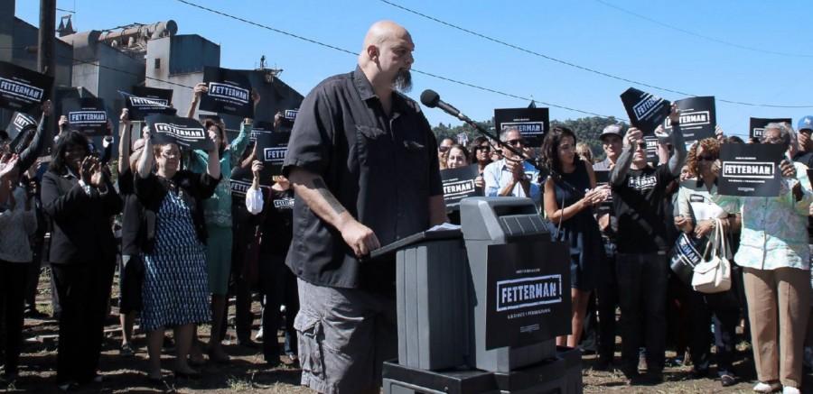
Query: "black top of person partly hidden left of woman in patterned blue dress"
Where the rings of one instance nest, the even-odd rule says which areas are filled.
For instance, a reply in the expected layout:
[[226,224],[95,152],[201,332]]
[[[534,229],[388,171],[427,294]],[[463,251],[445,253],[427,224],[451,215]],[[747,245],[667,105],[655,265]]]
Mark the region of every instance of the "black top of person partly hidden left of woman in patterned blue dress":
[[129,167],[118,174],[117,182],[118,194],[124,201],[121,213],[121,253],[133,256],[141,253],[144,207],[135,196],[135,178]]

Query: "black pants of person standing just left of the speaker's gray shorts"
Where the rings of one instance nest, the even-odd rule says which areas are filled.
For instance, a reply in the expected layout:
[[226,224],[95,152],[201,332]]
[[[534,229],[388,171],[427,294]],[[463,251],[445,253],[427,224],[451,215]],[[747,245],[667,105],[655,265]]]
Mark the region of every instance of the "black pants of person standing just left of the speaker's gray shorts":
[[[263,309],[263,355],[266,362],[279,360],[279,343],[276,330],[279,328],[280,305],[285,304],[285,333],[294,335],[294,318],[299,312],[299,292],[296,277],[285,265],[285,256],[260,255],[260,286],[266,295]],[[297,353],[296,341],[292,341],[291,351]]]

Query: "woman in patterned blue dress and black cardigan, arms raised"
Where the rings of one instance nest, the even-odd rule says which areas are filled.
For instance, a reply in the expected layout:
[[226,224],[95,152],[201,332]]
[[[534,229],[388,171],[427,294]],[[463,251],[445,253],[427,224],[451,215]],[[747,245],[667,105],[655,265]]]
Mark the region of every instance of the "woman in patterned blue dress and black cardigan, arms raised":
[[[135,194],[148,211],[144,246],[145,278],[141,325],[147,333],[150,380],[161,380],[164,329],[173,327],[177,376],[197,377],[187,355],[196,324],[210,320],[206,273],[206,225],[201,201],[220,181],[218,151],[209,152],[206,174],[179,170],[178,145],[145,133]],[[153,172],[153,167],[155,171]]]

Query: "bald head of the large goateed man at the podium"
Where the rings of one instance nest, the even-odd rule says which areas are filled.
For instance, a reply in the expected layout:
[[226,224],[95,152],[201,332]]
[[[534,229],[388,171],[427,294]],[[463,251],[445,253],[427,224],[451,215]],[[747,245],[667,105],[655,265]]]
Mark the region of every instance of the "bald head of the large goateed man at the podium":
[[412,36],[398,23],[378,21],[364,36],[364,48],[359,54],[359,66],[374,89],[395,87],[406,91],[411,87]]

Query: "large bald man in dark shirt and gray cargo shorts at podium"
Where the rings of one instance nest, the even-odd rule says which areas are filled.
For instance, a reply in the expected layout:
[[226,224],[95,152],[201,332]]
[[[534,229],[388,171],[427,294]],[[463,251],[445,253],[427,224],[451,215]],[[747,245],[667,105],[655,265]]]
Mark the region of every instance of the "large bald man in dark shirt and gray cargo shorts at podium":
[[374,23],[359,67],[304,98],[288,144],[294,328],[302,384],[322,393],[378,393],[397,356],[395,261],[360,258],[446,219],[435,135],[397,92],[411,86],[413,50],[402,26]]

